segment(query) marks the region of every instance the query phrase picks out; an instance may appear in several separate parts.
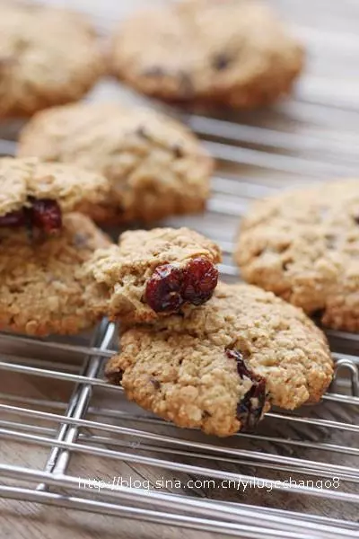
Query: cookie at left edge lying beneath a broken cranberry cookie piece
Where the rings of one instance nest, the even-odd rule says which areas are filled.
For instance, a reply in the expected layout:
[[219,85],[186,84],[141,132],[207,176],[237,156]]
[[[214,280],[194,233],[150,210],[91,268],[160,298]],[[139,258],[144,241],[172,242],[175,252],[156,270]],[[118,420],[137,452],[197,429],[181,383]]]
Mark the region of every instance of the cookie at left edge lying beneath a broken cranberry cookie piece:
[[107,236],[81,214],[64,217],[61,234],[41,243],[26,231],[0,229],[0,329],[31,335],[77,333],[96,321],[78,275]]

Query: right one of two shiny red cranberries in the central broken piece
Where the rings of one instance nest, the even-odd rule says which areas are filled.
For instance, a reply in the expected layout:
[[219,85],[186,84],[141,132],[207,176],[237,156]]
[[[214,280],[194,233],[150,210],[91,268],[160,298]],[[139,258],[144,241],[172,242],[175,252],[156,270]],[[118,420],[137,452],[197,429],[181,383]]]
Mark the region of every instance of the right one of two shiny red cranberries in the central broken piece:
[[218,282],[218,270],[206,258],[188,262],[183,271],[183,298],[193,305],[202,305],[213,295]]

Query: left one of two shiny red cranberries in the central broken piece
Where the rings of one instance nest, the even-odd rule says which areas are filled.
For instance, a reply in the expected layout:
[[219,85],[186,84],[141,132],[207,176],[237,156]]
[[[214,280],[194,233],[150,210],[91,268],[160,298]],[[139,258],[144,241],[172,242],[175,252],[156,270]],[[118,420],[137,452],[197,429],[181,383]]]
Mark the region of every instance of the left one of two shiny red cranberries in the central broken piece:
[[156,313],[175,313],[183,304],[182,270],[171,264],[158,266],[147,281],[145,301]]

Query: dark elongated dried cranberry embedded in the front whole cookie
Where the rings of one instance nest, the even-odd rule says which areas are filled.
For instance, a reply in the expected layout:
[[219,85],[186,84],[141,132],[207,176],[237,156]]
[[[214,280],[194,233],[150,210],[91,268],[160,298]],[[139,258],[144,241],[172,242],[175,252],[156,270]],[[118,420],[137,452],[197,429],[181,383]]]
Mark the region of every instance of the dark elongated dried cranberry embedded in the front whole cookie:
[[250,378],[252,386],[237,404],[237,418],[241,421],[242,430],[254,429],[262,417],[266,403],[266,379],[258,376],[244,363],[240,351],[226,349],[228,358],[237,362],[238,374],[243,378]]

